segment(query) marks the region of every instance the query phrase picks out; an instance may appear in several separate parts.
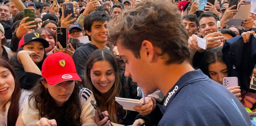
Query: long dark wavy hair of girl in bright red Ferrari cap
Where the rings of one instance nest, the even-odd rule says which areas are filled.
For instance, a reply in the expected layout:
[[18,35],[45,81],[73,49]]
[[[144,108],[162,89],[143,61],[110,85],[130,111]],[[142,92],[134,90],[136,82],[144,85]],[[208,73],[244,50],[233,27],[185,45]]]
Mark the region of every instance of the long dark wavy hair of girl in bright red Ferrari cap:
[[[32,88],[32,95],[29,97],[30,100],[34,100],[34,107],[39,110],[39,117],[47,117],[48,119],[55,119],[57,125],[59,126],[61,121],[61,109],[57,107],[56,102],[50,95],[48,89],[45,89],[42,81],[46,79],[41,78]],[[65,121],[67,126],[81,126],[80,114],[81,114],[81,105],[78,97],[79,93],[79,84],[75,83],[74,91],[72,92],[69,99],[63,104],[65,113]],[[31,106],[30,106],[31,107]],[[32,108],[32,107],[31,107]]]

